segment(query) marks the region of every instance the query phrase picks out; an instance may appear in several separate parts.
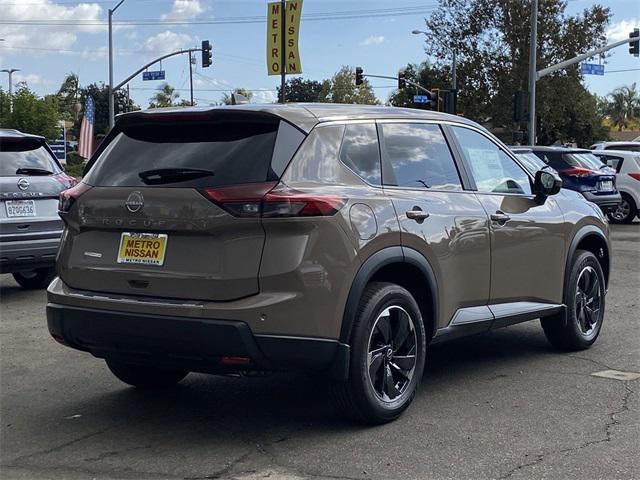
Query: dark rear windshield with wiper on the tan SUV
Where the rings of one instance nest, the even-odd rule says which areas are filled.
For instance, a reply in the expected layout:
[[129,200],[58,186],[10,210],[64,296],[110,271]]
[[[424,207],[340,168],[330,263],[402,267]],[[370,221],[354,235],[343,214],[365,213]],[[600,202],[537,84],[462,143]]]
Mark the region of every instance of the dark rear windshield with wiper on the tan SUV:
[[125,126],[84,181],[94,186],[197,188],[277,180],[271,159],[279,123],[260,118]]

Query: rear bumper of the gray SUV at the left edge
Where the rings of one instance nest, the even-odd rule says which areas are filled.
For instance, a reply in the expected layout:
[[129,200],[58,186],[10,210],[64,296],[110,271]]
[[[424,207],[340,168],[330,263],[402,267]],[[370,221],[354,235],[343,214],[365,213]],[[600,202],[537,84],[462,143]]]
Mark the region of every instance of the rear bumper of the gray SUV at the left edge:
[[0,273],[13,273],[55,265],[61,232],[53,238],[0,242]]

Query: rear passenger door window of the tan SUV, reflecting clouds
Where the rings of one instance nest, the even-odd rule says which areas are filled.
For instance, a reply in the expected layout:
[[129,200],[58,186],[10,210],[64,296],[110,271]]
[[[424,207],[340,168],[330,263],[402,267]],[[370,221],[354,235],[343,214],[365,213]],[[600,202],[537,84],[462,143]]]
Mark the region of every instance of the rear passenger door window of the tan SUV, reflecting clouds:
[[385,185],[462,190],[449,146],[438,125],[385,123],[384,152],[391,168]]

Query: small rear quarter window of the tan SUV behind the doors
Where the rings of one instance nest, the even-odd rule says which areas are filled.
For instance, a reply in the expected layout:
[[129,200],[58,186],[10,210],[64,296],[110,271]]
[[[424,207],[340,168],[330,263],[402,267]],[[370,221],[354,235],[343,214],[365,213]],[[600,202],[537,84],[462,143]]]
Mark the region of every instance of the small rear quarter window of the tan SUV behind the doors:
[[340,160],[367,182],[380,185],[380,150],[375,124],[356,123],[346,126]]

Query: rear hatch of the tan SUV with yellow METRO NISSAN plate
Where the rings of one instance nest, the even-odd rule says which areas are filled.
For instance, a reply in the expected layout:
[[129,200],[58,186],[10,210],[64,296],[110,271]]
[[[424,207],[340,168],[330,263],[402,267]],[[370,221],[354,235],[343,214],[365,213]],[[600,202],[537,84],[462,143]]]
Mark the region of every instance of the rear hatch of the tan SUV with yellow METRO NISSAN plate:
[[[256,294],[265,239],[259,212],[241,196],[234,208],[245,209],[242,215],[214,200],[219,191],[247,186],[264,194],[303,139],[259,112],[120,119],[83,183],[65,197],[70,205],[61,202],[69,226],[62,280],[78,289],[176,299]],[[288,148],[280,148],[285,140]]]

